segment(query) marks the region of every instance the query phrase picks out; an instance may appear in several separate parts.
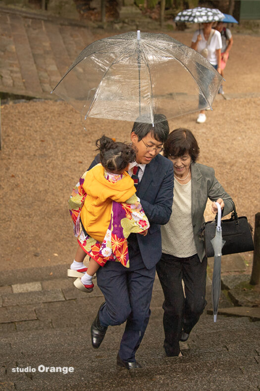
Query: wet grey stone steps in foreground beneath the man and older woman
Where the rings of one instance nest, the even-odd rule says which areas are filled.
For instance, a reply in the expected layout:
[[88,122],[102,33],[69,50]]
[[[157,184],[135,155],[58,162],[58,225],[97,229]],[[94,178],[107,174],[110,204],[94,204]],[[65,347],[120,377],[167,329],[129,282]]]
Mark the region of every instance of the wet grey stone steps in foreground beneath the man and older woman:
[[[248,317],[218,315],[213,323],[205,311],[181,344],[183,357],[165,357],[156,278],[151,319],[137,352],[143,368],[128,372],[115,365],[124,325],[109,327],[98,350],[91,346],[90,326],[103,302],[95,281],[91,294],[78,291],[66,278],[66,265],[5,271],[1,277],[0,390],[260,389],[260,324]],[[210,308],[210,281],[207,300]],[[69,367],[72,372],[63,373]]]

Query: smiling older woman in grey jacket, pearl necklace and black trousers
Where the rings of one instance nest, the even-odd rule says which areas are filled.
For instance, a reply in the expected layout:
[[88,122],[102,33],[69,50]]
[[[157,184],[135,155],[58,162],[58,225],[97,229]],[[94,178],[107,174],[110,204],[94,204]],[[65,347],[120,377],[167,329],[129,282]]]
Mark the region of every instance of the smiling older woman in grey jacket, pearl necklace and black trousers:
[[[179,341],[188,339],[207,304],[207,258],[200,241],[207,200],[219,202],[222,215],[233,210],[232,198],[215,178],[213,168],[196,162],[199,150],[192,132],[183,128],[173,130],[164,144],[164,156],[173,163],[175,179],[172,214],[161,226],[162,256],[156,265],[164,293],[167,356],[182,355]],[[211,210],[217,213],[215,202]]]

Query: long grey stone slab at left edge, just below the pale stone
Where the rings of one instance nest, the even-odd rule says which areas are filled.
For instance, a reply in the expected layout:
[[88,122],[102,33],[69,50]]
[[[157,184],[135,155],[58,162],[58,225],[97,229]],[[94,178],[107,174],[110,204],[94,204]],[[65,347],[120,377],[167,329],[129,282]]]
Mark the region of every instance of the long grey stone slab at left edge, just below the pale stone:
[[22,292],[2,295],[3,307],[16,306],[31,303],[46,303],[64,301],[64,295],[60,289],[45,290],[40,292]]

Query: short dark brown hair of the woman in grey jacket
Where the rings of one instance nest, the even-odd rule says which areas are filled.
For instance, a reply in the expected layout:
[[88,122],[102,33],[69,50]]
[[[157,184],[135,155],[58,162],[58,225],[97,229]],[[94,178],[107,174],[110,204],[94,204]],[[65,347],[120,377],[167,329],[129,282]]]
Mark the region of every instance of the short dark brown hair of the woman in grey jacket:
[[188,153],[194,162],[198,159],[200,148],[196,138],[189,129],[172,130],[163,145],[163,155],[179,157],[185,153]]

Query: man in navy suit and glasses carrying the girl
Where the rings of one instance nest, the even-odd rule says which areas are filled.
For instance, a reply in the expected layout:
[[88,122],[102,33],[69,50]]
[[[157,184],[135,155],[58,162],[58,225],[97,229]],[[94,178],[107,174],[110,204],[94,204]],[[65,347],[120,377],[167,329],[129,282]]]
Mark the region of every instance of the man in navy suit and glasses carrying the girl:
[[[136,148],[136,161],[130,164],[129,174],[134,174],[136,194],[149,219],[150,229],[146,236],[129,236],[129,268],[120,262],[110,261],[97,272],[97,282],[105,302],[91,326],[92,345],[94,348],[100,346],[108,326],[121,325],[126,321],[116,362],[127,369],[141,367],[135,353],[151,314],[156,263],[161,257],[160,225],[166,224],[171,215],[173,165],[159,154],[168,134],[168,122],[162,115],[155,115],[154,125],[134,123],[131,141]],[[97,163],[99,156],[90,168]]]

